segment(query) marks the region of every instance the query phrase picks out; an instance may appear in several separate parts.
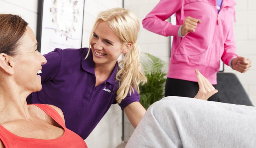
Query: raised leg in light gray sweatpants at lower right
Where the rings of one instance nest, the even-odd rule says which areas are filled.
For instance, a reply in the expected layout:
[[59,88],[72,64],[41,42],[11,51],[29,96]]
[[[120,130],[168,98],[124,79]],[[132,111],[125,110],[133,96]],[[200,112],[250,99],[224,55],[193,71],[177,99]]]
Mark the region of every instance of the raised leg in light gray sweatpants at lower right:
[[256,107],[169,96],[151,105],[127,148],[256,147]]

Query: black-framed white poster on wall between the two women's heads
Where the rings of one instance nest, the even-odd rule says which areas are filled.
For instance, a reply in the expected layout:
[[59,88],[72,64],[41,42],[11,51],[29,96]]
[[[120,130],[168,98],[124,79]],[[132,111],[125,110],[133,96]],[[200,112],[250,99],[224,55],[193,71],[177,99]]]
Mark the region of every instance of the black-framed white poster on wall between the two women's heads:
[[38,0],[38,51],[81,48],[84,0]]

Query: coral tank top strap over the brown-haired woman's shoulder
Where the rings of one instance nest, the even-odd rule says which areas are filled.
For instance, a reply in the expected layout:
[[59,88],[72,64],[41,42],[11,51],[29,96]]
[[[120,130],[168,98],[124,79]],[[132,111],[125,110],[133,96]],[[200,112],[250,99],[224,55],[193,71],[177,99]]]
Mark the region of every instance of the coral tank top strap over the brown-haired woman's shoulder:
[[51,106],[46,104],[32,104],[42,109],[46,114],[48,114],[55,122],[57,122],[60,126],[65,128],[65,123],[61,117],[61,115]]

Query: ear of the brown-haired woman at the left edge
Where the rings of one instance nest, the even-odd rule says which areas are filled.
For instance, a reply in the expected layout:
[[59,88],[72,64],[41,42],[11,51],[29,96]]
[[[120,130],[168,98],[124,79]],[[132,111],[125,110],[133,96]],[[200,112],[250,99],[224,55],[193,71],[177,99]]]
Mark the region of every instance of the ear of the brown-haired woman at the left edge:
[[6,73],[13,75],[14,70],[11,62],[11,56],[4,53],[0,54],[0,68]]

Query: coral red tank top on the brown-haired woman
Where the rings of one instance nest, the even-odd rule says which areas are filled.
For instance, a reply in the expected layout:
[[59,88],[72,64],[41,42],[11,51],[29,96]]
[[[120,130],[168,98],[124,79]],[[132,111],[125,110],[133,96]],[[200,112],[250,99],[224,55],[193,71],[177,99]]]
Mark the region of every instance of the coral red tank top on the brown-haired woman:
[[3,145],[8,147],[37,147],[37,148],[64,148],[64,147],[75,147],[75,148],[87,148],[84,140],[73,131],[66,128],[65,123],[63,122],[60,114],[50,107],[49,105],[44,104],[33,104],[38,108],[41,108],[45,113],[54,119],[63,129],[64,134],[55,139],[43,140],[37,138],[25,138],[17,136],[2,125],[0,125],[0,139],[3,142]]

